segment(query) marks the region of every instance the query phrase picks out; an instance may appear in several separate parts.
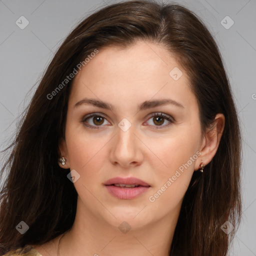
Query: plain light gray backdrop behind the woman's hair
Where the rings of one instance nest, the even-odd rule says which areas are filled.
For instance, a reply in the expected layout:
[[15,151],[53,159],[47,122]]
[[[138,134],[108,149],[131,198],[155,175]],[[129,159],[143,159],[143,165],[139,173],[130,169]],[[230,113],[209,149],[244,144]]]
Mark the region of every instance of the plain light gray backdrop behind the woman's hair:
[[[69,31],[84,16],[117,1],[0,0],[0,150],[43,70]],[[242,129],[243,214],[229,255],[256,255],[256,0],[179,0],[198,14],[218,43]],[[15,21],[29,24],[20,29]],[[224,19],[229,16],[231,20]],[[225,22],[226,24],[222,24]],[[24,24],[24,20],[22,22]],[[0,165],[3,160],[0,159]],[[4,182],[2,180],[1,182]]]

